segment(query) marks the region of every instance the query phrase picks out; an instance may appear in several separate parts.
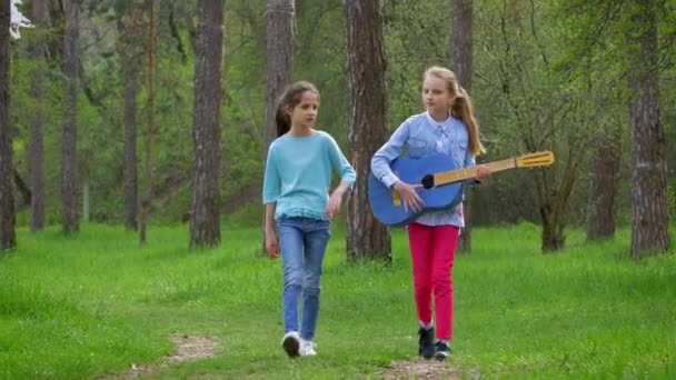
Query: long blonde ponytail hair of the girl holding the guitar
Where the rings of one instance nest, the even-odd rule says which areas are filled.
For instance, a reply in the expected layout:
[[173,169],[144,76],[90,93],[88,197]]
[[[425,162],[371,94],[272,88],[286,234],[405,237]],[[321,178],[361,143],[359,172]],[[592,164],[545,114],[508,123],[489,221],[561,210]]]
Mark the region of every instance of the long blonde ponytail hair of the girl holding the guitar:
[[427,77],[436,77],[446,82],[446,89],[454,99],[450,104],[450,114],[463,120],[467,127],[467,134],[469,136],[469,151],[474,157],[477,157],[486,152],[486,148],[479,139],[479,123],[474,117],[474,107],[471,106],[471,99],[463,87],[458,83],[456,74],[438,66],[433,66],[425,71],[422,80]]

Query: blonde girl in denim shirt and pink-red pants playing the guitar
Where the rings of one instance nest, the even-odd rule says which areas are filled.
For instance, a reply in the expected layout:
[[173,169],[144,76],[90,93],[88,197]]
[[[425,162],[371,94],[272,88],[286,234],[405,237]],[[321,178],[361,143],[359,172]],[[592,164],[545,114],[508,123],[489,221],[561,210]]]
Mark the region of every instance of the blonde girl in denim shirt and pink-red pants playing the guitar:
[[[411,159],[445,153],[458,168],[475,164],[485,152],[479,141],[479,124],[471,101],[453,71],[431,67],[424,76],[422,102],[426,112],[409,117],[397,128],[371,160],[371,172],[385,186],[397,191],[405,210],[420,211],[424,201],[420,184],[400,181],[390,163],[405,153]],[[476,181],[490,177],[490,169],[477,167]],[[420,213],[407,226],[416,311],[419,320],[418,354],[444,360],[450,354],[453,338],[451,269],[460,228],[465,226],[463,203],[450,210]],[[436,312],[433,319],[433,293]]]

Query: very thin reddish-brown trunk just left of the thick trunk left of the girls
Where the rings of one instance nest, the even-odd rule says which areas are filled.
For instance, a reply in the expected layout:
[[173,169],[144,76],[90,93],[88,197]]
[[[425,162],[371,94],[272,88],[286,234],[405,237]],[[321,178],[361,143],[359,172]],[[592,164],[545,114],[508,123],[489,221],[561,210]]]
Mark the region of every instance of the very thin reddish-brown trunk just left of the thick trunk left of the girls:
[[148,227],[148,213],[152,201],[152,136],[155,134],[155,47],[157,44],[157,32],[155,28],[155,14],[157,13],[157,1],[148,0],[150,13],[148,14],[148,132],[146,136],[146,196],[141,203],[141,218],[139,228],[139,242],[145,244],[147,241],[146,229]]

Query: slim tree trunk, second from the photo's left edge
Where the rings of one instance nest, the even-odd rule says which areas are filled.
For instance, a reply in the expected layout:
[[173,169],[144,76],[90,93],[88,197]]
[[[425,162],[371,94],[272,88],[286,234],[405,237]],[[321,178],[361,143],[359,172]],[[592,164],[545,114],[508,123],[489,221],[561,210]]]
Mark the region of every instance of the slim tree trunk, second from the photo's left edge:
[[44,49],[47,1],[33,0],[32,22],[38,32],[31,43],[31,57],[36,68],[32,72],[31,94],[34,110],[31,120],[31,141],[29,149],[30,162],[30,230],[40,231],[44,228]]

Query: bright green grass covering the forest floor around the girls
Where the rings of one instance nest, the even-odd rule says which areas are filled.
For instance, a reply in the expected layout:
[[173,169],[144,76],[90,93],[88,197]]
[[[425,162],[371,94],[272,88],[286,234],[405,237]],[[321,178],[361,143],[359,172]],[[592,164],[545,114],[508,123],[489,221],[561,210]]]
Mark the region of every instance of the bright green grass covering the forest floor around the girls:
[[[380,378],[414,360],[416,317],[402,231],[391,264],[350,264],[336,226],[322,277],[319,356],[279,347],[281,268],[258,228],[225,229],[188,250],[185,226],[151,228],[146,247],[120,227],[74,237],[19,231],[0,257],[0,378],[116,377],[173,352],[172,334],[211,337],[217,356],[146,378]],[[475,229],[457,256],[454,354],[467,377],[676,377],[676,256],[628,259],[629,232],[539,252],[539,229]]]

